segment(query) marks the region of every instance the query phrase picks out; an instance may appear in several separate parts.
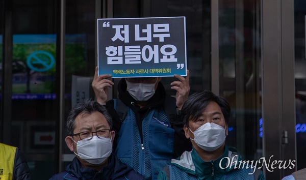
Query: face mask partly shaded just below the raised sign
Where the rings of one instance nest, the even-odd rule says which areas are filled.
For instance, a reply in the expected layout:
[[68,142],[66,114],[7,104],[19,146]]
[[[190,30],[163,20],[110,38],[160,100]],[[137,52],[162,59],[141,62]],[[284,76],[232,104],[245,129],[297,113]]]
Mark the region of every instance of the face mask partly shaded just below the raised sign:
[[[155,83],[133,83],[126,81],[126,91],[136,101],[147,101],[155,94]],[[157,80],[156,80],[157,81]]]

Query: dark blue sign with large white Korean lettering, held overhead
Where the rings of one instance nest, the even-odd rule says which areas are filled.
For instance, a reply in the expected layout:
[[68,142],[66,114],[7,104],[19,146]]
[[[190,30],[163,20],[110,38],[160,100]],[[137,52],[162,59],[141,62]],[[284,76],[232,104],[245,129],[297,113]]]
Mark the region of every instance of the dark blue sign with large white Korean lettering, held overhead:
[[98,75],[187,75],[185,17],[97,19]]

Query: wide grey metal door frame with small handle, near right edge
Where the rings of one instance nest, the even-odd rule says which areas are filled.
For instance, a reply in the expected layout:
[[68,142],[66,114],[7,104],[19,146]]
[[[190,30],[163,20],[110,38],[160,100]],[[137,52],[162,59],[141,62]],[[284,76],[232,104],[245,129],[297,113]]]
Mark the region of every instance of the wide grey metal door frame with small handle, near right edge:
[[[294,1],[262,1],[263,155],[282,165],[266,167],[266,179],[296,169]],[[284,165],[286,163],[286,166]],[[288,163],[294,167],[288,168]],[[287,168],[286,168],[287,167]]]

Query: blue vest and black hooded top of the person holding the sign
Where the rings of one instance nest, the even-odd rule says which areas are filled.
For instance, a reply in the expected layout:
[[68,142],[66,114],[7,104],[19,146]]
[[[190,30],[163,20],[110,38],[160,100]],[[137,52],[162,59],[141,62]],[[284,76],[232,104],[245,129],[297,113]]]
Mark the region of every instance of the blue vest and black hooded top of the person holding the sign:
[[[161,82],[143,107],[137,105],[126,87],[122,78],[118,84],[119,99],[106,104],[116,132],[113,150],[123,163],[132,166],[145,179],[156,179],[172,158],[191,151],[192,144],[185,136],[183,119],[176,112],[175,98],[167,98]],[[167,113],[167,109],[171,112]]]

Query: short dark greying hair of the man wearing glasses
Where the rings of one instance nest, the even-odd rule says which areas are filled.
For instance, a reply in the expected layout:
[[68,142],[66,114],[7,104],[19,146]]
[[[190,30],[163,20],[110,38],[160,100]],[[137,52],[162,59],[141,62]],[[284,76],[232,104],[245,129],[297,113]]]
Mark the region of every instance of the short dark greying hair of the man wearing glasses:
[[106,118],[106,121],[108,122],[110,129],[113,128],[113,122],[111,115],[107,112],[107,109],[100,105],[98,102],[93,100],[86,100],[84,103],[79,103],[76,106],[74,106],[73,109],[69,112],[68,118],[67,118],[67,131],[68,135],[72,135],[74,128],[75,128],[75,118],[80,114],[91,114],[93,112],[100,112],[104,115]]

